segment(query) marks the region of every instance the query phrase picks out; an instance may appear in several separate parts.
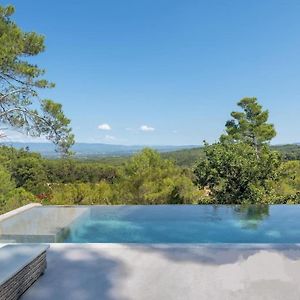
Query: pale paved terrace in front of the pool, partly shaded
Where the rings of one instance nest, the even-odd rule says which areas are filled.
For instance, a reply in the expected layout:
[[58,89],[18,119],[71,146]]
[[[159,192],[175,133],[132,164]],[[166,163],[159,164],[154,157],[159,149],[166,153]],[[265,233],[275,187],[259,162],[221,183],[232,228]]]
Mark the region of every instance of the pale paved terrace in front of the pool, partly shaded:
[[40,299],[300,299],[300,245],[51,244]]

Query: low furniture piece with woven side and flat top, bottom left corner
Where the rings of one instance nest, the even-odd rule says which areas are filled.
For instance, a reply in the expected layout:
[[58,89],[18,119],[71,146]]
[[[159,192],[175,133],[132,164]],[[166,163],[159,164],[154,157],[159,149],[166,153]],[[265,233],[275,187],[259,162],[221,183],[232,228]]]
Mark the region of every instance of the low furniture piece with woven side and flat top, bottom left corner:
[[48,245],[15,244],[0,248],[0,300],[19,299],[44,273]]

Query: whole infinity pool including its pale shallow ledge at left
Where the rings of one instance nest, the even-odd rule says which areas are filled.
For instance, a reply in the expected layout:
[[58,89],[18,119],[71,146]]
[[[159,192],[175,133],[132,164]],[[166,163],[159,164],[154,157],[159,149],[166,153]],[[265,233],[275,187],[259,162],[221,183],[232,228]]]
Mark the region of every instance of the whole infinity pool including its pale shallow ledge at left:
[[0,222],[0,242],[300,243],[300,206],[41,206]]

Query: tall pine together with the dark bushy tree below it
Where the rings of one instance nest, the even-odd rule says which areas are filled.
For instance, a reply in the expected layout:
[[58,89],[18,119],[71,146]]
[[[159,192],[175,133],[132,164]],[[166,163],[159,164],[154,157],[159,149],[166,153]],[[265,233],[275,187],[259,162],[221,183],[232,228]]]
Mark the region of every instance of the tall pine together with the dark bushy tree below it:
[[280,176],[281,156],[268,144],[276,132],[256,98],[244,98],[238,105],[244,112],[231,113],[227,134],[218,143],[205,144],[205,158],[195,168],[196,183],[217,203],[268,202]]

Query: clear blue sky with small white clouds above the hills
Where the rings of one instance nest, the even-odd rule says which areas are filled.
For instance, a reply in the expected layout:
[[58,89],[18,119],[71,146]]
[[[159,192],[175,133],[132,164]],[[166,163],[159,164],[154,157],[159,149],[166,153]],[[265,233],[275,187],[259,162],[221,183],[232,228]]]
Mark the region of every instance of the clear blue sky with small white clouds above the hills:
[[273,143],[300,142],[298,0],[7,3],[22,28],[46,36],[35,62],[77,141],[213,142],[236,102],[256,96]]

